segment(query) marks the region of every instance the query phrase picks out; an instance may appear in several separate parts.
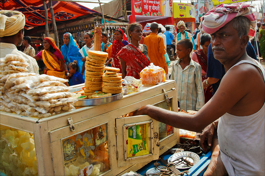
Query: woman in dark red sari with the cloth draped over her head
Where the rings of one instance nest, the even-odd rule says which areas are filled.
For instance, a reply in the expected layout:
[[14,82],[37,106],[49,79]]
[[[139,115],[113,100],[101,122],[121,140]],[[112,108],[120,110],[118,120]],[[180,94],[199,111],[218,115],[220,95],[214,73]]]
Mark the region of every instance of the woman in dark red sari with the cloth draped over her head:
[[[122,68],[120,65],[120,59],[118,59],[117,54],[119,53],[120,49],[128,45],[129,42],[121,29],[116,29],[114,32],[114,36],[116,40],[114,40],[112,43],[110,59],[112,61],[112,67],[119,68],[121,73]],[[110,60],[108,60],[108,62],[110,62]]]

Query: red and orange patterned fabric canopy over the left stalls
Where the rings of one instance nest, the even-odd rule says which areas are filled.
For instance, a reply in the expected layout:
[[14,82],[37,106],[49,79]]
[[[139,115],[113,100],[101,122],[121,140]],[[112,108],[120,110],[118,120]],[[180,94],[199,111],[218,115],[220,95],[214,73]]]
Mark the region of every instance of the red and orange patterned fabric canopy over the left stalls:
[[[49,1],[46,0],[45,2],[50,23],[52,21],[52,16],[51,13],[49,13]],[[55,21],[65,21],[91,13],[99,13],[75,2],[52,1],[52,7]],[[40,0],[4,0],[0,4],[0,9],[22,12],[26,18],[26,29],[45,25],[44,6]]]

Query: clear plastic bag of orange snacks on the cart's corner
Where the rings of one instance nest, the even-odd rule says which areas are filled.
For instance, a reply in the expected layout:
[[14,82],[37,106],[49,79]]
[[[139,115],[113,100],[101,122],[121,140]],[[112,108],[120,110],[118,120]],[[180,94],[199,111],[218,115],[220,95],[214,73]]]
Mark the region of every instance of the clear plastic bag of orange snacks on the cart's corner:
[[161,67],[150,63],[140,72],[140,80],[142,84],[158,84],[165,82],[165,70]]

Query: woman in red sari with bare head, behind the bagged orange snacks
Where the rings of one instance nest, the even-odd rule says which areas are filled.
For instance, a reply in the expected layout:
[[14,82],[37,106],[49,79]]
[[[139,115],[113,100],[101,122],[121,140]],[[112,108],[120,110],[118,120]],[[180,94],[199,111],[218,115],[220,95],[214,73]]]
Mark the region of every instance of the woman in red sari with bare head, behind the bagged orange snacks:
[[121,62],[122,78],[132,76],[140,79],[140,72],[150,65],[147,47],[139,43],[143,36],[143,26],[139,23],[131,23],[127,26],[127,31],[131,43],[117,54]]

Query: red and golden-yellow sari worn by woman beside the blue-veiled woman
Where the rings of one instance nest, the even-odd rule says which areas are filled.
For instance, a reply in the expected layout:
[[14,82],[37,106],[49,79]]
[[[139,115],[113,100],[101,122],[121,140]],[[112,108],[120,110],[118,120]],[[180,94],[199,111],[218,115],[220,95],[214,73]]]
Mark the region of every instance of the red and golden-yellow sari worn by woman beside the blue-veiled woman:
[[[50,37],[46,37],[44,40],[46,40],[59,53],[59,55],[62,57],[62,60],[64,61],[62,53],[55,45],[54,40]],[[49,50],[42,50],[42,59],[46,67],[49,69],[48,71],[44,70],[44,74],[66,79],[63,63],[59,58],[56,57],[54,53],[51,53]],[[66,82],[66,85],[67,84],[68,83]]]

